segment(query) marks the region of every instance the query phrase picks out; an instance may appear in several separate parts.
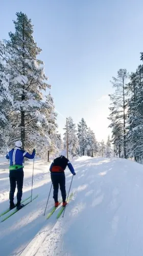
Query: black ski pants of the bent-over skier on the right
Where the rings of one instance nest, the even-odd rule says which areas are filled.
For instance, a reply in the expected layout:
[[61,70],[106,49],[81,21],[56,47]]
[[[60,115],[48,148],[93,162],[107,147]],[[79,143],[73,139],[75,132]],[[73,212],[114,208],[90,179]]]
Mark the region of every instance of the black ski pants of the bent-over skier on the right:
[[51,179],[54,187],[54,195],[53,198],[55,200],[55,203],[58,202],[58,190],[60,185],[60,190],[62,194],[62,200],[63,202],[66,201],[66,191],[65,191],[65,174],[62,173],[51,173]]

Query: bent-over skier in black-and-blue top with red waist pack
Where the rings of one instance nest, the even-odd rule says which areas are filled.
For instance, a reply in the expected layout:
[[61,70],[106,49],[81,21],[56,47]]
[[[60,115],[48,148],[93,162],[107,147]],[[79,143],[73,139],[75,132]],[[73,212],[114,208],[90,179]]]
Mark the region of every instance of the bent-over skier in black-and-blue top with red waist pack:
[[66,190],[65,190],[65,173],[64,170],[68,166],[70,172],[76,175],[75,170],[69,160],[65,157],[66,151],[62,151],[60,157],[56,158],[50,167],[51,179],[54,187],[54,200],[55,207],[58,207],[58,190],[60,185],[60,190],[62,194],[63,206],[66,206]]

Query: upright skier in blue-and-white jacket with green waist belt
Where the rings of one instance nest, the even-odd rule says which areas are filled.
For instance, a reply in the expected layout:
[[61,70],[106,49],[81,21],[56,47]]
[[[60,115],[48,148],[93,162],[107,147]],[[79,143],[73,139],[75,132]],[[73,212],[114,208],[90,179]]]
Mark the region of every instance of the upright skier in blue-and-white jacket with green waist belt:
[[23,205],[20,204],[21,197],[22,197],[22,187],[23,187],[23,158],[27,157],[29,159],[33,159],[35,157],[35,150],[33,150],[32,155],[30,155],[25,150],[21,150],[22,142],[20,140],[15,142],[15,148],[8,152],[6,155],[7,159],[10,159],[10,210],[15,207],[15,204],[13,202],[14,200],[14,192],[16,188],[16,182],[17,182],[17,210],[21,209]]

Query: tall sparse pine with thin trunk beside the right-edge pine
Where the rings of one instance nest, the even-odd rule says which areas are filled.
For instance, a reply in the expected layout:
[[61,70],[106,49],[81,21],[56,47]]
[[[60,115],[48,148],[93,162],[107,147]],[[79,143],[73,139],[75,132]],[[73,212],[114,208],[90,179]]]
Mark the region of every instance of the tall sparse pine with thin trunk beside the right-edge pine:
[[[120,69],[117,71],[117,78],[113,77],[112,85],[115,87],[115,93],[109,95],[111,100],[110,116],[109,120],[111,124],[109,127],[112,128],[112,139],[115,143],[116,134],[115,131],[120,129],[122,133],[120,133],[120,147],[124,150],[124,158],[127,158],[126,154],[126,123],[127,123],[127,79],[128,73],[126,69]],[[117,129],[116,129],[117,127]],[[114,129],[115,128],[115,129]],[[117,136],[118,137],[118,136]],[[123,142],[123,144],[121,144]]]

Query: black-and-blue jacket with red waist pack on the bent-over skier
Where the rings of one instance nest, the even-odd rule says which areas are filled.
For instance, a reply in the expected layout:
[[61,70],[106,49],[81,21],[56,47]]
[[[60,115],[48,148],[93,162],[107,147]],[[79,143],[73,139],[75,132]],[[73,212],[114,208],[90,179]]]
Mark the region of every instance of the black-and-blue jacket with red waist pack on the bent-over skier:
[[62,172],[64,172],[64,170],[66,169],[67,166],[68,166],[70,172],[72,174],[75,174],[74,167],[69,162],[69,160],[64,156],[60,156],[60,157],[56,158],[53,161],[53,163],[51,164],[50,172],[51,173],[62,173]]

